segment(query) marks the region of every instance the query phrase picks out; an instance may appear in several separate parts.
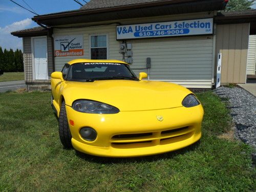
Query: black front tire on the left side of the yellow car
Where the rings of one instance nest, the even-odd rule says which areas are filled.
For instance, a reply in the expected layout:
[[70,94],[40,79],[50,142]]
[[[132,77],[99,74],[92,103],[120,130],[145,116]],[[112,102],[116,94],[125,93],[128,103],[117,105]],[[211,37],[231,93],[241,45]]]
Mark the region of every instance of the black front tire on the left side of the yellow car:
[[71,138],[65,101],[63,101],[59,112],[59,139],[65,148],[72,148]]

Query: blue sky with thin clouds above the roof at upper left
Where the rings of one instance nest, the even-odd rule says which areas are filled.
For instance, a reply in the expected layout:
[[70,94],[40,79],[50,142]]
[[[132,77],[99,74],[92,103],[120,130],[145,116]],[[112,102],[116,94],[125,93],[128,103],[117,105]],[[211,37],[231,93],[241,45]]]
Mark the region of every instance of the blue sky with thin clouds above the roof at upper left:
[[[80,5],[73,0],[13,0],[16,3],[30,9],[24,1],[41,15],[47,13],[69,11],[79,9]],[[79,0],[82,4],[83,0]],[[89,2],[89,0],[86,0]],[[253,5],[256,9],[256,4]],[[34,14],[18,7],[9,0],[0,0],[0,46],[6,49],[22,49],[22,38],[14,37],[12,31],[27,29],[37,26],[31,20]]]

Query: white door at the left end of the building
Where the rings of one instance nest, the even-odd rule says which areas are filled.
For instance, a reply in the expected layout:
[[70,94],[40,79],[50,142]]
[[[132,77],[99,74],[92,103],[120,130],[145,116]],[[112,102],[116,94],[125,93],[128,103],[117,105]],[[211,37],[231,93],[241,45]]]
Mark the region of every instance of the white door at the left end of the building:
[[35,79],[48,79],[46,37],[33,38]]

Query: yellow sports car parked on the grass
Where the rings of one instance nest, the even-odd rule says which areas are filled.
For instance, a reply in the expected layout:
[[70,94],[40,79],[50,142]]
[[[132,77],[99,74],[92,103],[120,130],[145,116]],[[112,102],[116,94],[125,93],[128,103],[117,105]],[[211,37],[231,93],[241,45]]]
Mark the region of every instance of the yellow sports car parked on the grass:
[[104,157],[160,154],[201,137],[203,108],[188,89],[142,80],[119,60],[75,59],[51,74],[64,147]]

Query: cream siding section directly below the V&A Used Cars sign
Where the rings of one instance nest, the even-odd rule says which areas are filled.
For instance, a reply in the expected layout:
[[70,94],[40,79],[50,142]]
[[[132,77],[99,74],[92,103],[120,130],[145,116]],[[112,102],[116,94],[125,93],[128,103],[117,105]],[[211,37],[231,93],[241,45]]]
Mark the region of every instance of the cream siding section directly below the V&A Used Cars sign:
[[[132,69],[145,68],[151,58],[150,79],[170,81],[187,88],[211,88],[212,36],[129,40],[132,43]],[[128,43],[129,43],[128,42]]]

